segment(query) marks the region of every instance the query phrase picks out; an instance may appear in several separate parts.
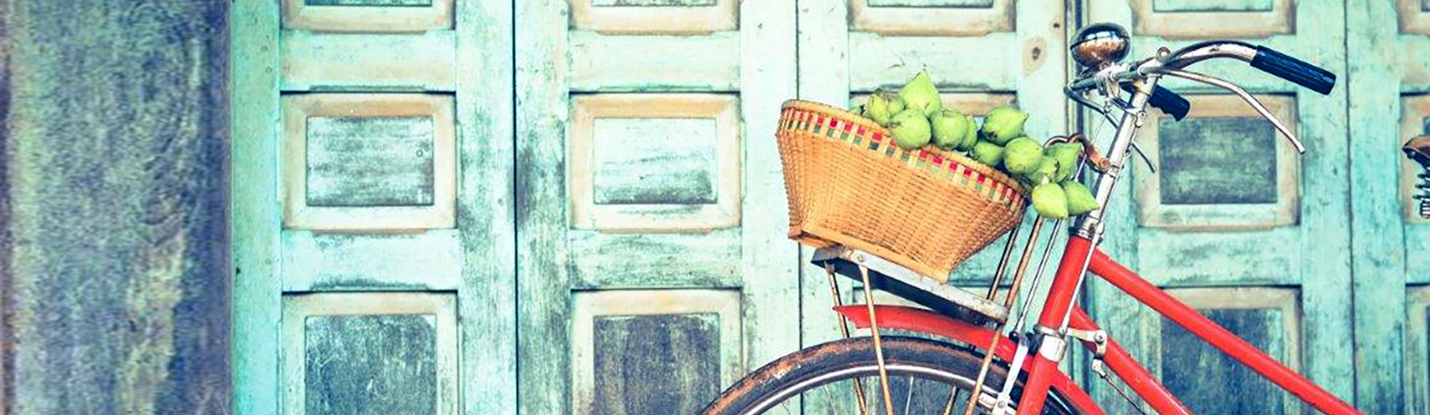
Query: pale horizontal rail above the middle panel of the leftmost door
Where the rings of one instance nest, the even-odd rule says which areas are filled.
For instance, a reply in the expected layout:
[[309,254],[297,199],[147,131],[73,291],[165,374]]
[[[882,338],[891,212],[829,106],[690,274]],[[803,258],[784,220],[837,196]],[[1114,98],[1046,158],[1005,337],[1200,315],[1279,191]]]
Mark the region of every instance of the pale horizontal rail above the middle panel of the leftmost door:
[[456,88],[456,34],[327,34],[285,30],[283,91]]

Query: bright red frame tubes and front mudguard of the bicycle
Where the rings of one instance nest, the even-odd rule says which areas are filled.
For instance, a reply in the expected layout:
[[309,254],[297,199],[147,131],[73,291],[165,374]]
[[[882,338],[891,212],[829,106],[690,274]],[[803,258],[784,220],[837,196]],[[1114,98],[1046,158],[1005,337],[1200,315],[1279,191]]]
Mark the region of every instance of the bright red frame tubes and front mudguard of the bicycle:
[[[1040,327],[1057,329],[1062,325],[1065,318],[1064,312],[1071,309],[1071,315],[1067,315],[1068,327],[1084,331],[1098,329],[1097,324],[1093,322],[1087,312],[1078,307],[1070,307],[1077,295],[1077,287],[1083,280],[1081,274],[1084,262],[1087,262],[1087,271],[1090,274],[1101,277],[1123,292],[1137,298],[1137,301],[1145,304],[1163,317],[1167,317],[1167,319],[1171,319],[1177,325],[1181,325],[1221,352],[1251,368],[1261,376],[1266,376],[1281,389],[1286,389],[1301,401],[1306,401],[1316,409],[1326,414],[1360,414],[1356,408],[1351,408],[1340,398],[1336,398],[1336,395],[1331,395],[1321,386],[1317,386],[1286,365],[1281,365],[1271,357],[1267,357],[1254,345],[1238,338],[1236,334],[1227,331],[1214,321],[1207,319],[1198,314],[1197,309],[1187,307],[1181,301],[1177,301],[1177,298],[1163,292],[1155,285],[1137,275],[1137,272],[1117,264],[1117,261],[1108,258],[1103,254],[1103,251],[1097,250],[1091,241],[1083,237],[1072,235],[1068,240],[1067,250],[1062,252],[1062,260],[1058,264],[1058,271],[1052,278],[1052,287],[1050,288],[1047,301],[1044,302],[1042,314],[1038,317]],[[835,311],[849,318],[849,321],[859,328],[868,327],[868,314],[862,307],[839,307],[835,308]],[[941,314],[915,308],[891,305],[875,307],[874,315],[878,318],[878,324],[881,327],[921,331],[975,347],[987,345],[994,335],[991,329],[974,327]],[[1060,338],[1054,338],[1052,341],[1061,342]],[[1068,404],[1074,405],[1084,414],[1103,414],[1091,398],[1088,398],[1087,392],[1071,384],[1067,375],[1058,371],[1058,361],[1062,359],[1062,348],[1050,347],[1048,344],[1050,341],[1045,339],[1040,351],[1030,351],[1030,362],[1027,362],[1022,368],[1027,371],[1028,378],[1022,389],[1022,398],[1018,402],[1018,414],[1040,414],[1050,388],[1061,392],[1062,396],[1068,398]],[[1084,347],[1095,349],[1097,345],[1094,342],[1084,342]],[[1014,348],[1015,345],[1012,342],[1004,339],[992,352],[1004,361],[1010,361],[1012,358]],[[1048,349],[1048,355],[1045,355],[1042,349]],[[1191,414],[1191,411],[1188,411],[1187,406],[1177,399],[1177,396],[1167,391],[1161,382],[1153,378],[1153,375],[1147,372],[1141,364],[1138,364],[1113,339],[1107,339],[1105,342],[1104,362],[1108,369],[1117,374],[1117,376],[1121,378],[1133,389],[1133,392],[1147,401],[1147,404],[1157,412]]]

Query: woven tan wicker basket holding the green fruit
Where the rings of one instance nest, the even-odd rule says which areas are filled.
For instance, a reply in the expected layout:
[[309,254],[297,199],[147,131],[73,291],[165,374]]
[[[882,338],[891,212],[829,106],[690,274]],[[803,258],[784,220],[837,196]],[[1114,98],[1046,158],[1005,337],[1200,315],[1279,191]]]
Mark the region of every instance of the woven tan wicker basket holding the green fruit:
[[1021,218],[1027,191],[968,157],[907,151],[852,113],[791,100],[779,117],[789,238],[841,244],[944,282]]

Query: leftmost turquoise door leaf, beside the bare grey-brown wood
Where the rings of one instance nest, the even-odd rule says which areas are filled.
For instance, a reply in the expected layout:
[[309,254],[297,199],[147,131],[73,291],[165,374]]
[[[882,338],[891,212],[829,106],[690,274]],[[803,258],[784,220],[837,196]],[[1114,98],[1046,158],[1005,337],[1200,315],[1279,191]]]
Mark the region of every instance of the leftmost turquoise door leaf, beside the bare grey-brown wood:
[[239,414],[513,414],[511,3],[233,6]]

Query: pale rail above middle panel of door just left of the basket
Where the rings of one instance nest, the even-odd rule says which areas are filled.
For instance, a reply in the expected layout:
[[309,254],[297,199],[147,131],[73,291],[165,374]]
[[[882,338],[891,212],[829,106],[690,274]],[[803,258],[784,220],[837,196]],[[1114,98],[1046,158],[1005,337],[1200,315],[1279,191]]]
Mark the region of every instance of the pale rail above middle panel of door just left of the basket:
[[572,91],[735,91],[739,37],[571,33]]

